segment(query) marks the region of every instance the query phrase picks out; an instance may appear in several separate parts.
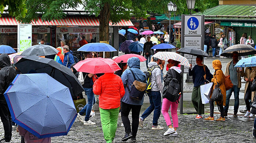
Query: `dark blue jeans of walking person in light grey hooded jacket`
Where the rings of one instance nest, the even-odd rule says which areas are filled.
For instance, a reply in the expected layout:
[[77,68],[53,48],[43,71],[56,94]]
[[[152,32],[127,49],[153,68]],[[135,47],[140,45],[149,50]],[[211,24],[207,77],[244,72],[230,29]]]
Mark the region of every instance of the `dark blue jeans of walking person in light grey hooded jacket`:
[[158,119],[161,114],[161,93],[160,91],[151,91],[151,93],[147,95],[149,96],[150,106],[147,107],[147,109],[144,111],[140,118],[142,119],[142,121],[144,121],[144,119],[149,116],[152,111],[154,111],[153,125],[157,126]]

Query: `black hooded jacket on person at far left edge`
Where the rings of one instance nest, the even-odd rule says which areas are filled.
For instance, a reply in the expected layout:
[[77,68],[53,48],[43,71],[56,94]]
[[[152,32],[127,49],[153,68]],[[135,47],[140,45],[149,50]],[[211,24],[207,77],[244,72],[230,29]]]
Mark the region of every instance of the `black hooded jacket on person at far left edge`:
[[11,66],[11,60],[7,54],[0,55],[0,103],[6,103],[4,92],[16,76],[15,69]]

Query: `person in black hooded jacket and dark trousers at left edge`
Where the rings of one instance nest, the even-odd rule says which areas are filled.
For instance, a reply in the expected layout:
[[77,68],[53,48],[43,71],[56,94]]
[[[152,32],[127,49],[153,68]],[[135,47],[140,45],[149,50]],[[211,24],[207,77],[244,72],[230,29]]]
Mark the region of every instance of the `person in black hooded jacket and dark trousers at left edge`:
[[3,94],[9,87],[9,84],[14,80],[16,72],[15,69],[11,67],[11,61],[7,54],[0,55],[0,68],[0,117],[4,126],[4,139],[1,139],[0,142],[8,143],[12,135],[12,122],[10,110]]

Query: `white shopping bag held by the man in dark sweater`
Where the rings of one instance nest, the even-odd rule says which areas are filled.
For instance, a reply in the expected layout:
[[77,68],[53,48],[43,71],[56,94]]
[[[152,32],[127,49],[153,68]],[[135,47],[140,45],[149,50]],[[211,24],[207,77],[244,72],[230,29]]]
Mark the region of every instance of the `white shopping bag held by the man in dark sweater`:
[[208,83],[200,86],[201,99],[203,104],[209,103],[213,83]]

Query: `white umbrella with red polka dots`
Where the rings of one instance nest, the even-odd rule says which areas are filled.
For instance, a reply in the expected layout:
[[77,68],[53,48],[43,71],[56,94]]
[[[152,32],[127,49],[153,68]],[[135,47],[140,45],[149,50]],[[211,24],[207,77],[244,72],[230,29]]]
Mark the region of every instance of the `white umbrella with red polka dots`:
[[176,60],[181,62],[181,65],[189,67],[188,59],[186,59],[184,56],[181,56],[175,52],[157,52],[156,54],[153,55],[153,57],[156,57],[161,60],[168,60],[168,59]]

